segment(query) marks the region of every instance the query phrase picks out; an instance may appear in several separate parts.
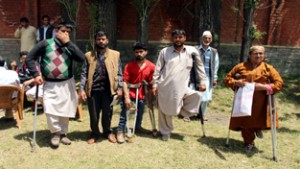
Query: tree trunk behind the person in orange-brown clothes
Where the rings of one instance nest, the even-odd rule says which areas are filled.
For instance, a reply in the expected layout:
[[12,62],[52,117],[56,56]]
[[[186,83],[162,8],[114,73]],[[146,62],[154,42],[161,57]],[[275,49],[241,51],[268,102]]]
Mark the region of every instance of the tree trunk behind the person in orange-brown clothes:
[[248,55],[249,49],[253,42],[253,14],[257,5],[258,0],[245,0],[244,2],[243,36],[240,53],[240,62],[243,62],[244,57]]

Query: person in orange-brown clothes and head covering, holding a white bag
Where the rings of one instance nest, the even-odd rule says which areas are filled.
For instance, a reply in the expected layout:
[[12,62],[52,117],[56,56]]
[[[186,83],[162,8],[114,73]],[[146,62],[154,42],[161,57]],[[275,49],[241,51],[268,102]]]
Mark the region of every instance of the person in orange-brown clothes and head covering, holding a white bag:
[[[265,62],[264,53],[263,46],[252,46],[248,60],[236,65],[223,81],[233,90],[255,83],[251,116],[231,117],[229,125],[230,130],[241,131],[246,153],[252,152],[255,136],[263,138],[262,130],[269,129],[271,122],[278,127],[276,120],[270,120],[268,95],[282,90],[283,80],[276,69]],[[239,79],[235,78],[236,74],[240,75]]]

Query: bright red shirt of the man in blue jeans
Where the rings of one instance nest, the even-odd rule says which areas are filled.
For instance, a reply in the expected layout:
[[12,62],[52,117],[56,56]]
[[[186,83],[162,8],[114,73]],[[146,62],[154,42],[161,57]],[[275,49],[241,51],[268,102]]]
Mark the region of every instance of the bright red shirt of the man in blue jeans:
[[[140,68],[136,61],[129,62],[125,65],[124,73],[123,73],[123,81],[130,84],[141,83],[143,80],[146,80],[148,83],[148,91],[152,89],[151,81],[153,79],[155,65],[149,60],[145,60],[145,66]],[[136,90],[130,89],[129,97],[135,98]],[[140,86],[139,88],[139,100],[145,98],[145,89],[144,86]]]

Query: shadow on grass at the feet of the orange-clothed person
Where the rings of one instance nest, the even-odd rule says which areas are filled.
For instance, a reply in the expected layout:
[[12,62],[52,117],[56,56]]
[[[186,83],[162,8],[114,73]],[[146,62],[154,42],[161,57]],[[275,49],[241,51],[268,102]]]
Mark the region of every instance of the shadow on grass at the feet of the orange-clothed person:
[[262,151],[256,147],[251,153],[246,153],[244,149],[244,143],[239,140],[230,139],[229,145],[226,146],[226,138],[215,138],[215,137],[201,137],[198,141],[202,144],[207,145],[210,149],[214,151],[217,157],[222,160],[227,160],[224,154],[244,154],[245,156],[251,158],[256,153],[261,153]]

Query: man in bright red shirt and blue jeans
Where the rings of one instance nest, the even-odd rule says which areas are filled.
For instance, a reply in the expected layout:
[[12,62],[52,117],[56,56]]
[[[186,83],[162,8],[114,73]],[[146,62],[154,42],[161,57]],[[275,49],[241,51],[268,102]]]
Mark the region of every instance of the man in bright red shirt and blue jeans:
[[145,89],[143,85],[139,87],[139,94],[136,96],[136,89],[130,89],[128,92],[127,84],[138,84],[142,83],[145,80],[148,85],[148,91],[152,90],[152,77],[155,69],[155,65],[146,59],[146,55],[148,54],[148,50],[145,44],[143,43],[135,43],[133,46],[135,60],[129,62],[125,65],[124,73],[123,73],[123,91],[124,91],[124,99],[121,102],[122,111],[120,115],[120,122],[117,128],[117,141],[118,143],[124,143],[125,136],[124,131],[126,128],[126,111],[130,108],[131,101],[135,101],[136,97],[138,97],[138,112],[137,112],[137,120],[135,124],[136,131],[144,131],[142,128],[142,119],[144,113],[144,99],[145,99]]

